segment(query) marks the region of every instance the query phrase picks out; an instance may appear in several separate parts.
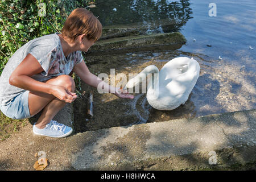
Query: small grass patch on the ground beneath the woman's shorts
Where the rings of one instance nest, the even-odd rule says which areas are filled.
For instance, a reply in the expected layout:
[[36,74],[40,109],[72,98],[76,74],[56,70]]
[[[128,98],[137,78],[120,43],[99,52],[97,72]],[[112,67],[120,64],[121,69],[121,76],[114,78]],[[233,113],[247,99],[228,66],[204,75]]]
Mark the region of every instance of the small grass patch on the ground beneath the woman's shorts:
[[27,119],[11,119],[0,111],[0,140],[6,140],[11,134],[16,133],[27,125]]

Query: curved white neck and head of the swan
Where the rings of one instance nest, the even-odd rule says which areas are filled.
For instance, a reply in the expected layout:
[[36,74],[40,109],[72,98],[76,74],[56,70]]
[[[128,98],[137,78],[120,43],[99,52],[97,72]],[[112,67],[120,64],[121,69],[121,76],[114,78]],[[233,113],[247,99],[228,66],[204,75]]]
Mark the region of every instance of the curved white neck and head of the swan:
[[[149,73],[151,73],[151,78]],[[149,77],[148,77],[149,76]],[[139,85],[139,83],[146,81],[146,78],[150,78],[150,80],[147,81],[147,91],[148,89],[155,90],[155,88],[158,88],[159,85],[159,69],[155,65],[150,65],[143,69],[141,73],[139,73],[134,78],[131,78],[127,84],[125,85],[126,88],[133,88],[134,86]]]

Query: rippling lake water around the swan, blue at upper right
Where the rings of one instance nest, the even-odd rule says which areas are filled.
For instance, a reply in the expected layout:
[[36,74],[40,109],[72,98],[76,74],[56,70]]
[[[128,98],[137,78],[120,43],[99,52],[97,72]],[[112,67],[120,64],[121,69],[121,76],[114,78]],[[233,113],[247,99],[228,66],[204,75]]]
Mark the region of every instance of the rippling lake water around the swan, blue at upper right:
[[[90,56],[92,73],[139,73],[147,65],[159,69],[167,61],[188,56],[201,67],[200,77],[185,105],[172,111],[159,111],[148,105],[146,94],[134,94],[134,100],[119,99],[113,94],[94,92],[94,115],[86,119],[86,99],[76,101],[77,131],[97,130],[135,123],[193,118],[201,115],[255,109],[256,3],[214,1],[216,16],[209,16],[212,1],[97,1],[91,8],[103,26],[140,23],[147,34],[180,31],[187,43],[176,51],[109,53]],[[161,24],[170,20],[173,23]],[[253,48],[253,49],[250,49]],[[219,57],[220,56],[220,57]]]

